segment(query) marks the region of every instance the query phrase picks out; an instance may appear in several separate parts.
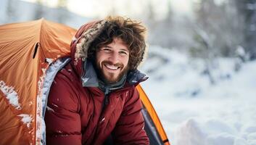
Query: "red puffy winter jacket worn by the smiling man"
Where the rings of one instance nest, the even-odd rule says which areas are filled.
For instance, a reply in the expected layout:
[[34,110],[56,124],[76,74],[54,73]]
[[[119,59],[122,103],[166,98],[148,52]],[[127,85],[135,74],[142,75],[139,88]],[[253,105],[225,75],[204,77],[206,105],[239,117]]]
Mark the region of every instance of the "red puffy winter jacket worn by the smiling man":
[[[111,135],[114,144],[149,144],[141,115],[136,83],[125,83],[107,97],[97,87],[83,87],[83,61],[75,59],[80,35],[95,25],[78,30],[71,45],[72,61],[65,65],[51,85],[45,114],[46,144],[104,144]],[[136,74],[136,73],[135,73]],[[134,77],[133,77],[134,78]],[[137,77],[138,78],[138,77]]]

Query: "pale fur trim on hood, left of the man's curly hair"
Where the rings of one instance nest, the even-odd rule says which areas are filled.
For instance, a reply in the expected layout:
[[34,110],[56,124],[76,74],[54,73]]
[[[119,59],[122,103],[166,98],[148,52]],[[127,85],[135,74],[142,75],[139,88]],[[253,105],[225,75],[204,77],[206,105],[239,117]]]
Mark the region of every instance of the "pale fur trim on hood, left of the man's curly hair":
[[83,60],[87,58],[87,52],[91,42],[102,33],[106,23],[107,20],[99,21],[80,36],[80,41],[76,44],[75,62],[77,62],[79,58]]

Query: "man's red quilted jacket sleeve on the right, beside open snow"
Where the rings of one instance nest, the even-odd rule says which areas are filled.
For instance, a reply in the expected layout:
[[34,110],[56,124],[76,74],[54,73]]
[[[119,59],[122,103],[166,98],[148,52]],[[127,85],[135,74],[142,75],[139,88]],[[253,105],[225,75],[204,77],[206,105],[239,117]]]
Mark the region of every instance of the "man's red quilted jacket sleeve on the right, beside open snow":
[[149,144],[141,114],[141,99],[136,88],[125,101],[122,115],[112,132],[115,144]]

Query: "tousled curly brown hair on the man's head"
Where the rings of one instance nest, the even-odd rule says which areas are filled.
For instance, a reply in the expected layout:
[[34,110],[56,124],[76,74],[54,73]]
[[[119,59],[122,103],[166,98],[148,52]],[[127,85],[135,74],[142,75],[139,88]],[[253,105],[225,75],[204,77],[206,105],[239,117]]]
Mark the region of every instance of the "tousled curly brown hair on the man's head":
[[113,38],[120,38],[130,51],[129,70],[136,70],[145,53],[146,28],[141,22],[124,17],[107,17],[105,20],[107,23],[104,30],[91,42],[88,59],[94,59],[96,50],[112,43]]

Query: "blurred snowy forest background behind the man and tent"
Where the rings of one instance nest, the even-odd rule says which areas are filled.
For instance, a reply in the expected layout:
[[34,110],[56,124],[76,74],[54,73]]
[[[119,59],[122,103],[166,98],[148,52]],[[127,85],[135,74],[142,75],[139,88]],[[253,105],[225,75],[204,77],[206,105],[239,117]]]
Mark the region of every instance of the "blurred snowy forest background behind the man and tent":
[[141,85],[171,144],[256,145],[255,0],[0,0],[0,25],[45,17],[79,28],[107,14],[149,30]]

